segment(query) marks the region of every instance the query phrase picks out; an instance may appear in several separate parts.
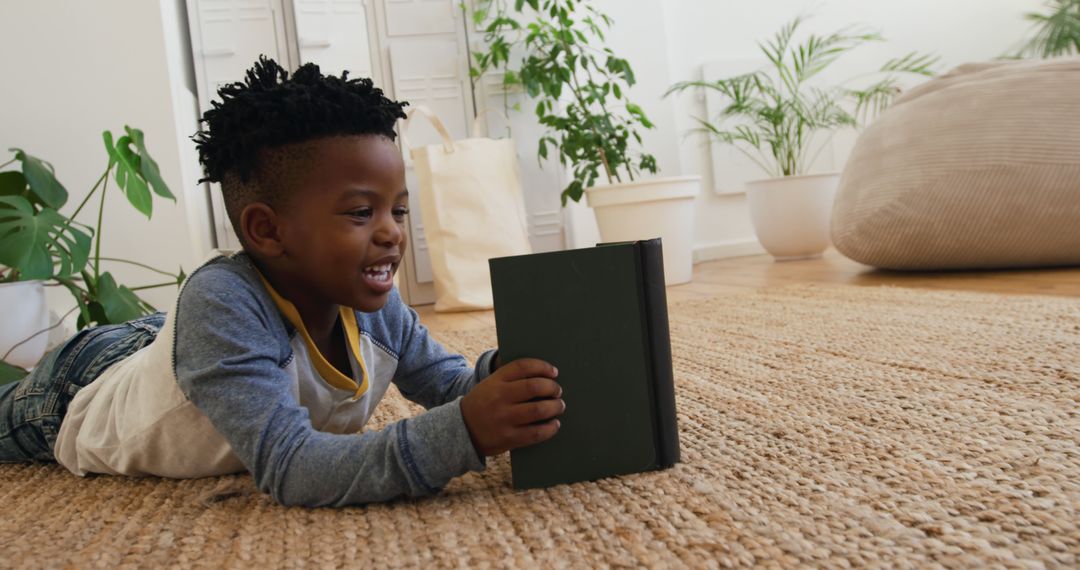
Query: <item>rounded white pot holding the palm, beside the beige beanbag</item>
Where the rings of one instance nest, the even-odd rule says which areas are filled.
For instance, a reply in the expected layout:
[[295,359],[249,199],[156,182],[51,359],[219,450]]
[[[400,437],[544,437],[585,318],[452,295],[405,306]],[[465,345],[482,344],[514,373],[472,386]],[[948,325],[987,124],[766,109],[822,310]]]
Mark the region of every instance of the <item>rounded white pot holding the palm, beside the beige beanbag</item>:
[[786,176],[746,182],[757,240],[777,261],[821,257],[839,173]]

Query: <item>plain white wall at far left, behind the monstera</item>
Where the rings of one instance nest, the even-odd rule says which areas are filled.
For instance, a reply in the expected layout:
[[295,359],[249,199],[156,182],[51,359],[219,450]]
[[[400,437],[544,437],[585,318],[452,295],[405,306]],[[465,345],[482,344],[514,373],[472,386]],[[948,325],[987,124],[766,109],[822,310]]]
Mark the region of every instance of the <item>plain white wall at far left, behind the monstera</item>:
[[[110,180],[102,255],[190,272],[211,243],[208,233],[191,229],[206,213],[187,138],[197,117],[188,91],[193,80],[185,72],[190,65],[183,59],[190,53],[180,33],[183,14],[183,0],[0,3],[0,149],[19,147],[51,161],[70,193],[65,211],[71,213],[108,163],[102,132],[119,137],[125,124],[141,128],[177,203],[154,196],[148,221]],[[96,212],[87,205],[80,219],[96,221]],[[108,270],[131,286],[162,281],[125,266]],[[176,289],[145,293],[165,310]],[[63,312],[75,303],[57,289],[50,291],[50,306]]]

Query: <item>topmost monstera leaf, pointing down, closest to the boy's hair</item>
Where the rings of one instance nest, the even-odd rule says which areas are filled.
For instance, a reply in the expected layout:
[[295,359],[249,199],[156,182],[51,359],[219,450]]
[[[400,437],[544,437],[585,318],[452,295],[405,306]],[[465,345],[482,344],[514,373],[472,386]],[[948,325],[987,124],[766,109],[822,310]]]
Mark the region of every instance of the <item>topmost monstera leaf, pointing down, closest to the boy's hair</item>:
[[[162,198],[173,201],[176,201],[176,198],[168,191],[168,187],[161,178],[158,163],[147,151],[143,132],[130,126],[125,126],[124,131],[127,134],[117,139],[114,144],[112,133],[108,131],[102,133],[105,150],[109,153],[109,167],[117,167],[117,184],[124,191],[127,201],[149,218],[153,213],[151,188]],[[134,149],[132,145],[135,146]]]

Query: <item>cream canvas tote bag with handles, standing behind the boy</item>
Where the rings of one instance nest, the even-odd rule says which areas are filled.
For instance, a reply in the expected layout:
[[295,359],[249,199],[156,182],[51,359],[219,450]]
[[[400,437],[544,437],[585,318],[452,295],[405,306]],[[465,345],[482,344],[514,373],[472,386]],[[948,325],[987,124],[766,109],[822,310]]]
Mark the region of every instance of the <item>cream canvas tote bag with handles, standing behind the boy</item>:
[[[409,147],[405,133],[413,118],[429,120],[441,145]],[[525,199],[511,138],[450,138],[430,109],[413,107],[402,127],[420,192],[420,216],[435,281],[435,311],[491,309],[487,260],[532,253],[525,221]]]

